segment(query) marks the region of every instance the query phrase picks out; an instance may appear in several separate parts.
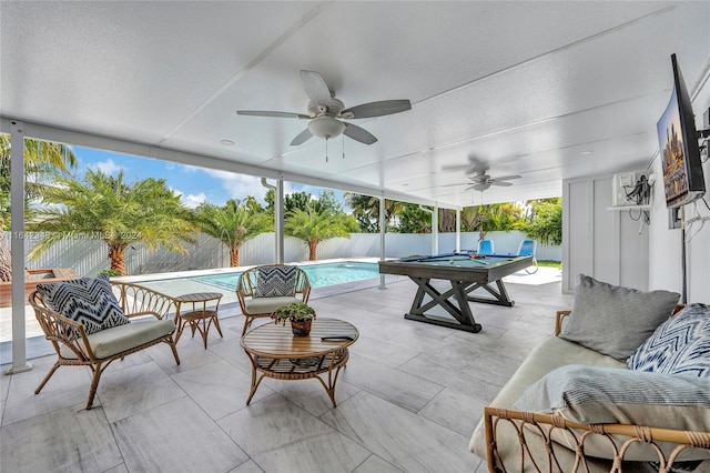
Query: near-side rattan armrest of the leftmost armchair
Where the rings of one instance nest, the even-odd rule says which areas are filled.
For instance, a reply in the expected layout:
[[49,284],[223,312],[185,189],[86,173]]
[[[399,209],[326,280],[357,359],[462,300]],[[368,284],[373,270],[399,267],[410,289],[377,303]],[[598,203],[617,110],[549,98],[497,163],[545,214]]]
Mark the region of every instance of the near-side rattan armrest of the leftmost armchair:
[[49,309],[37,291],[30,294],[29,302],[44,338],[54,345],[57,353],[60,353],[60,345],[64,345],[81,361],[94,360],[87,331],[80,322]]

